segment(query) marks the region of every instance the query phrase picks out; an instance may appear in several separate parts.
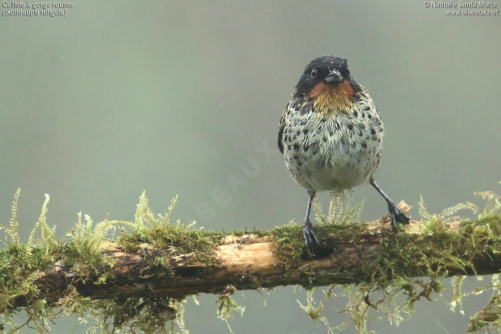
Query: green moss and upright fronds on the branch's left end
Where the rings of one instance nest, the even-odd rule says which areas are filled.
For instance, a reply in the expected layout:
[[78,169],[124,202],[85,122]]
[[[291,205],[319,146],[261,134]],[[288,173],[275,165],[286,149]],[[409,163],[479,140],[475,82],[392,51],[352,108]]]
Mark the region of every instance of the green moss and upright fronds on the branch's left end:
[[[201,229],[193,230],[191,225],[170,225],[169,217],[175,204],[173,199],[169,211],[165,215],[154,218],[147,207],[147,199],[143,193],[136,211],[134,222],[104,221],[95,224],[89,216],[79,214],[75,227],[66,233],[67,241],[58,241],[55,229],[46,223],[46,212],[49,196],[42,207],[42,214],[32,231],[28,243],[19,242],[17,233],[17,204],[19,190],[15,196],[13,218],[6,228],[10,236],[7,246],[0,250],[0,323],[3,327],[16,329],[31,323],[40,332],[50,332],[49,320],[67,314],[76,314],[81,318],[93,317],[97,322],[90,331],[100,328],[103,332],[187,332],[182,315],[184,298],[159,297],[152,299],[116,298],[91,300],[78,294],[75,284],[79,280],[93,280],[95,284],[105,284],[110,277],[114,259],[101,251],[101,244],[110,231],[125,226],[132,232],[123,231],[119,238],[126,250],[139,248],[141,243],[148,242],[161,253],[160,256],[147,257],[150,266],[165,265],[162,260],[172,256],[177,249],[190,251],[195,258],[204,263],[217,265],[214,259],[215,247],[221,237],[215,232]],[[15,222],[15,223],[14,223]],[[41,230],[41,238],[36,239],[37,230]],[[158,255],[158,254],[155,254]],[[71,265],[76,272],[73,282],[68,286],[59,300],[49,303],[37,299],[38,289],[33,284],[44,270],[51,268],[56,261],[63,265]],[[147,271],[147,270],[146,270]],[[146,274],[146,273],[145,273]],[[29,321],[17,326],[12,322],[12,314],[19,312],[16,300],[23,297],[28,306],[22,307]],[[60,307],[63,313],[53,313],[54,306]],[[111,321],[110,321],[111,319]]]

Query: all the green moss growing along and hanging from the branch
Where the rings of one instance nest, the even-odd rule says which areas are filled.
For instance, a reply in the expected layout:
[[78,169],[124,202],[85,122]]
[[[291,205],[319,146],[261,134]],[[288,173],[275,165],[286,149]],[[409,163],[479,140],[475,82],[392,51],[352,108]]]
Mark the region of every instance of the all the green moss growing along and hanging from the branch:
[[[171,224],[170,217],[177,197],[172,200],[167,213],[155,216],[149,209],[143,192],[133,222],[105,219],[94,223],[89,216],[82,219],[79,214],[77,224],[66,234],[66,239],[57,240],[55,229],[46,223],[49,202],[47,195],[28,242],[22,243],[17,231],[19,195],[20,190],[15,195],[13,217],[9,225],[0,225],[0,229],[5,228],[7,237],[6,247],[0,250],[0,314],[4,318],[4,321],[0,319],[2,326],[5,324],[11,329],[17,328],[12,324],[12,314],[19,312],[20,308],[15,303],[22,297],[28,302],[23,310],[30,325],[36,326],[39,331],[48,331],[48,323],[59,316],[76,314],[81,318],[91,317],[96,320],[89,330],[100,328],[102,332],[187,332],[183,322],[185,296],[118,296],[115,299],[91,300],[80,296],[75,284],[79,280],[106,284],[114,260],[102,251],[101,246],[117,229],[122,232],[117,242],[125,251],[143,254],[147,262],[147,267],[142,272],[144,277],[153,273],[167,277],[172,275],[166,261],[182,262],[185,254],[203,265],[217,267],[219,263],[215,251],[229,233],[195,229],[193,224],[182,225],[179,221]],[[368,332],[370,310],[384,314],[392,323],[398,324],[404,315],[412,314],[413,304],[417,300],[432,300],[440,295],[444,277],[460,273],[481,274],[477,272],[481,268],[473,267],[471,260],[482,254],[488,265],[489,256],[498,256],[501,252],[501,198],[492,192],[478,195],[487,201],[484,209],[466,202],[433,215],[427,212],[421,200],[419,211],[426,221],[421,230],[413,234],[381,235],[377,258],[361,263],[366,276],[359,277],[359,284],[341,285],[344,295],[348,297],[342,311],[349,316],[337,328],[353,325],[360,332]],[[332,194],[328,213],[324,216],[320,205],[315,203],[314,210],[319,222],[316,230],[323,240],[321,251],[335,251],[333,245],[340,243],[357,245],[357,240],[370,235],[367,224],[363,224],[360,219],[362,205],[352,205],[349,193],[346,196],[335,192]],[[459,226],[461,233],[451,232],[446,222],[457,221],[453,215],[464,208],[479,214],[478,220],[464,220]],[[40,237],[37,239],[38,234]],[[304,286],[316,284],[318,268],[304,262],[312,254],[304,246],[300,225],[291,222],[271,231],[245,229],[235,230],[232,234],[269,237],[280,265],[286,269],[286,275],[299,275]],[[52,300],[39,299],[40,291],[33,283],[44,270],[58,261],[63,265],[72,265],[77,275],[64,295]],[[161,270],[162,268],[165,270]],[[246,277],[256,280],[255,285],[259,286],[258,277],[254,273],[246,273]],[[460,282],[460,278],[455,282],[451,305],[460,305],[462,298],[471,293],[461,292]],[[322,312],[337,286],[329,286],[324,298],[318,303],[313,300],[313,290],[309,290],[307,303],[301,307],[314,321],[327,321]],[[471,318],[469,330],[501,328],[501,282],[498,275],[492,275],[492,285],[487,288],[493,290],[493,297]],[[218,316],[225,321],[231,316],[232,310],[243,312],[243,307],[237,305],[229,294],[221,296],[218,302]],[[55,313],[55,306],[61,308],[62,313]],[[327,322],[326,325],[331,330]]]

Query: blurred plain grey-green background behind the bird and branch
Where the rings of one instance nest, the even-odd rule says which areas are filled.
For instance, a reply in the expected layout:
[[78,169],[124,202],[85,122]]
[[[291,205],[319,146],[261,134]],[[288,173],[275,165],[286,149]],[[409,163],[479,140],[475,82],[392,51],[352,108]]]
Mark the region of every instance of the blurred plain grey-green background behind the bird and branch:
[[[59,236],[81,210],[132,220],[143,189],[154,212],[179,194],[173,217],[206,229],[302,222],[307,194],[279,154],[278,122],[306,64],[326,54],[349,60],[381,113],[376,180],[390,197],[415,218],[420,194],[431,212],[478,203],[472,193],[501,180],[500,28],[499,16],[450,17],[419,1],[77,1],[66,17],[0,18],[0,220],[21,187],[25,240],[44,193]],[[370,186],[354,197],[366,198],[364,219],[386,213]],[[229,320],[236,333],[325,332],[300,309],[303,290],[235,298],[246,306]],[[485,298],[467,299],[465,316],[418,302],[400,327],[371,329],[464,332]],[[188,329],[229,332],[216,296],[198,299]],[[344,301],[327,305],[331,324]],[[68,318],[52,329],[74,327],[85,328]]]

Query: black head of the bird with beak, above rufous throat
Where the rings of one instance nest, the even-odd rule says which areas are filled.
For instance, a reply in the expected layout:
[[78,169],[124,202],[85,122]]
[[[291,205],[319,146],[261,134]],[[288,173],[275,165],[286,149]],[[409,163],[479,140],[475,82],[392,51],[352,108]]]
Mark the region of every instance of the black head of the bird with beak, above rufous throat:
[[295,96],[305,96],[319,82],[328,85],[339,85],[348,81],[355,92],[360,91],[360,86],[351,76],[348,61],[337,56],[322,56],[311,61],[296,85]]

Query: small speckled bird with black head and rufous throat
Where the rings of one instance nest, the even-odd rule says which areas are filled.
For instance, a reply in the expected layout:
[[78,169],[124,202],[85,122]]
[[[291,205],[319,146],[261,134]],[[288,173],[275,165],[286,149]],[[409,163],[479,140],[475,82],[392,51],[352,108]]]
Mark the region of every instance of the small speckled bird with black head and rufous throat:
[[383,134],[379,112],[346,59],[321,56],[306,66],[280,120],[278,146],[292,177],[308,191],[303,237],[310,249],[320,244],[310,220],[317,192],[368,182],[386,200],[391,226],[409,223],[374,180]]

